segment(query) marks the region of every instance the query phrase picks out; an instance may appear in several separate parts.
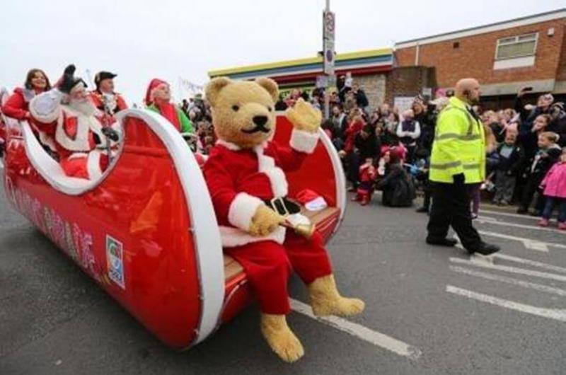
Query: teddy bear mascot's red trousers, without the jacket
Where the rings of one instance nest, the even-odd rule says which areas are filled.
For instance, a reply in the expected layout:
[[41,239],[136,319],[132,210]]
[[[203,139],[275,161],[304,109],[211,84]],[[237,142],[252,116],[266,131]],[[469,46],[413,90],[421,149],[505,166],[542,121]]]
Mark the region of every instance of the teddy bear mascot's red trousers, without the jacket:
[[314,233],[309,240],[287,230],[283,245],[259,241],[225,248],[224,252],[246,271],[262,313],[280,315],[291,311],[287,282],[293,270],[305,284],[332,273],[319,233]]

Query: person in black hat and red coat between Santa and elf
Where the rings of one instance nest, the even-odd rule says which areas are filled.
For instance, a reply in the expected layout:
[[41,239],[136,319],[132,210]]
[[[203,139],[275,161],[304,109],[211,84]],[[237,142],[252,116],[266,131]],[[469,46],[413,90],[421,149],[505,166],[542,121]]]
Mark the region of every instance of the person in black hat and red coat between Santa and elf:
[[96,89],[89,93],[91,100],[101,113],[108,115],[109,123],[114,122],[114,115],[128,108],[126,100],[114,91],[114,79],[117,74],[110,71],[99,71],[94,76]]

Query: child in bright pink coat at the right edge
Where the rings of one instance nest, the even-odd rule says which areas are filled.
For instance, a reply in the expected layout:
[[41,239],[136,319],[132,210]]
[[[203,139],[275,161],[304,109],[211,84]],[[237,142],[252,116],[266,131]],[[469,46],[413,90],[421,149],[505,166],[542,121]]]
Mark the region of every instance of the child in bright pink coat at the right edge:
[[546,202],[538,225],[548,226],[553,209],[558,207],[558,229],[566,231],[566,147],[562,149],[560,161],[546,173],[541,188],[544,189]]

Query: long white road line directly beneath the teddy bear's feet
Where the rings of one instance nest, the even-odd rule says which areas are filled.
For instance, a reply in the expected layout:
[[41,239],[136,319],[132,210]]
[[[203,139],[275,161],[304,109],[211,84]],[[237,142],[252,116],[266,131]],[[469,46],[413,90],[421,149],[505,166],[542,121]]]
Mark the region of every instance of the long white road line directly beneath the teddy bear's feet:
[[341,330],[342,332],[348,333],[377,347],[382,347],[383,349],[394,352],[395,354],[402,355],[403,357],[417,359],[422,354],[420,349],[417,347],[408,345],[403,341],[397,340],[383,333],[379,333],[375,330],[370,330],[363,325],[352,323],[346,319],[338,318],[337,316],[318,318],[313,315],[311,306],[308,306],[301,301],[297,301],[296,299],[291,299],[291,308],[297,313],[313,318],[320,323],[330,325],[330,327]]

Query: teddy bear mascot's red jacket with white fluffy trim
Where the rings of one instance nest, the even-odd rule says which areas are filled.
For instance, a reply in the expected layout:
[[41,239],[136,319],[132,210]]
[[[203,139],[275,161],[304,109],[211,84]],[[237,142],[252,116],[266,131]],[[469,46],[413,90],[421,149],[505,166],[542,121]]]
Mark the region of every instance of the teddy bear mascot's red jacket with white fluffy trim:
[[[284,172],[300,168],[317,142],[318,133],[294,130],[290,147],[266,142],[255,149],[241,149],[221,140],[216,143],[204,164],[204,178],[225,247],[266,240],[284,242],[283,227],[265,237],[253,237],[247,232],[256,209],[264,204],[264,200],[287,195]],[[308,222],[299,214],[290,219],[294,224]]]

